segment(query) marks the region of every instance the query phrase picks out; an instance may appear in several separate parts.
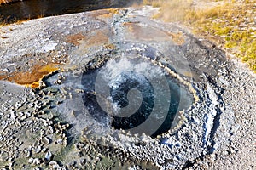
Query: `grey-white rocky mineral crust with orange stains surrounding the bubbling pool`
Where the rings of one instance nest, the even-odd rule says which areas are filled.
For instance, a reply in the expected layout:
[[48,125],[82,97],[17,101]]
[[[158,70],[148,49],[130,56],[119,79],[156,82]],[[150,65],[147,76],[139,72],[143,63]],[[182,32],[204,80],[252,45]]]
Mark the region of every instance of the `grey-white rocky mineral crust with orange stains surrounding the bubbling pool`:
[[[104,9],[0,28],[1,168],[256,167],[255,75],[212,42],[152,20],[156,10]],[[126,55],[154,63],[194,96],[181,121],[154,139],[115,130],[84,107],[83,73]]]

